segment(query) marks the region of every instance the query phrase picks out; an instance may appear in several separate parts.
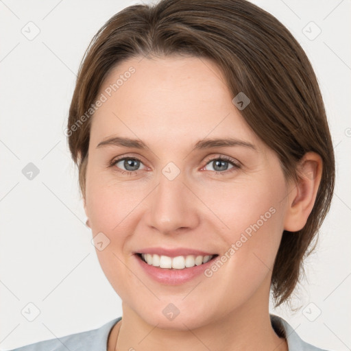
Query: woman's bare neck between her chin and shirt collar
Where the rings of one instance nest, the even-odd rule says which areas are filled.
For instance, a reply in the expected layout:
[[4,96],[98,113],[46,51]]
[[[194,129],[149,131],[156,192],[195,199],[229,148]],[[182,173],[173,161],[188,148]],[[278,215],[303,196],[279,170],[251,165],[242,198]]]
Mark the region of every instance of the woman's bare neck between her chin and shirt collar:
[[[271,327],[269,311],[233,311],[193,329],[161,329],[123,305],[123,318],[110,334],[108,351],[288,351]],[[186,324],[186,323],[185,323]]]

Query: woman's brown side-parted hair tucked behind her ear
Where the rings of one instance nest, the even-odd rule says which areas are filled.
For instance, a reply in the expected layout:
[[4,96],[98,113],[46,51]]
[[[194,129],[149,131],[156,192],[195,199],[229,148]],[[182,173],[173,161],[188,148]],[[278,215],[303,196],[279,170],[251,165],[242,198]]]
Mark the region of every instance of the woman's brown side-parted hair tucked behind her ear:
[[104,79],[122,60],[175,54],[214,60],[232,97],[243,92],[250,98],[241,114],[278,154],[287,178],[298,180],[296,166],[306,152],[322,157],[322,180],[306,226],[282,234],[271,278],[278,306],[299,282],[302,260],[329,210],[335,159],[324,103],[306,54],[282,23],[256,5],[245,0],[161,0],[129,6],[99,29],[82,60],[69,110],[69,148],[83,196],[91,118],[82,123],[82,116],[90,111]]

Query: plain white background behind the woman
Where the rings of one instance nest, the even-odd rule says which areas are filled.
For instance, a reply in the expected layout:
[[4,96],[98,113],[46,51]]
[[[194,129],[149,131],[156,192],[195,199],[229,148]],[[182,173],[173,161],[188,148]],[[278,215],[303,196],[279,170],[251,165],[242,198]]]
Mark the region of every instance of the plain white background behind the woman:
[[[302,339],[351,348],[350,0],[261,0],[310,58],[326,103],[337,186],[307,281],[293,307],[274,311]],[[113,14],[138,1],[0,0],[0,349],[97,328],[121,316],[90,243],[64,129],[75,74],[90,39]],[[32,21],[40,33],[28,40]],[[313,21],[322,33],[308,39]],[[310,37],[317,30],[304,29]],[[28,180],[33,162],[40,173]],[[29,302],[40,315],[27,321]],[[27,308],[27,307],[26,307]],[[33,308],[32,308],[33,311]],[[321,313],[314,322],[314,319]]]

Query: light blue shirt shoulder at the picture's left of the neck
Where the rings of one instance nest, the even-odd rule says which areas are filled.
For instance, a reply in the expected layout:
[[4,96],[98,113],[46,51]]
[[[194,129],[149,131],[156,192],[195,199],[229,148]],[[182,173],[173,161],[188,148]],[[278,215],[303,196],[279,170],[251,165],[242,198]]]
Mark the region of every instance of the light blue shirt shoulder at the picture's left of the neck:
[[32,343],[11,351],[106,351],[110,330],[120,319],[113,319],[97,329]]

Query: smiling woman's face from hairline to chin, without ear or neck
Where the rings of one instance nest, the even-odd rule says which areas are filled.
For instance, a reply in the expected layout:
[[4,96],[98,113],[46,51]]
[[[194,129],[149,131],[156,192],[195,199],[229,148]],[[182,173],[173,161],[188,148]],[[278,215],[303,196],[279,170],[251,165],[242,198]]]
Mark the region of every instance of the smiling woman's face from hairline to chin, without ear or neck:
[[[250,130],[233,97],[204,58],[132,58],[101,86],[85,210],[123,313],[185,329],[254,305],[252,311],[267,308],[288,189],[278,156]],[[215,139],[234,143],[204,142]],[[218,256],[206,269],[150,273],[136,255],[150,248],[160,256],[167,256],[160,249],[180,249],[168,253],[184,262],[192,252]]]

